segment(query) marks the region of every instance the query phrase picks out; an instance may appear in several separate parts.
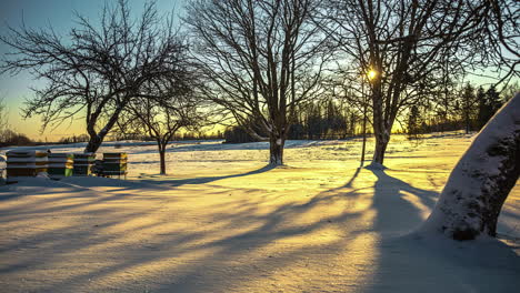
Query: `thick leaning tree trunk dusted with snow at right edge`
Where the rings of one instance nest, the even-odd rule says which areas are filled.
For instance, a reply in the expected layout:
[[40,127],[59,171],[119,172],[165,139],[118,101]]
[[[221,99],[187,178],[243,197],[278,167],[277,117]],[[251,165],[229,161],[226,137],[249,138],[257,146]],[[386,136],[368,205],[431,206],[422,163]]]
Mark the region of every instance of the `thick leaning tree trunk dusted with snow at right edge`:
[[520,93],[486,124],[448,179],[420,232],[454,240],[497,235],[497,221],[520,175]]

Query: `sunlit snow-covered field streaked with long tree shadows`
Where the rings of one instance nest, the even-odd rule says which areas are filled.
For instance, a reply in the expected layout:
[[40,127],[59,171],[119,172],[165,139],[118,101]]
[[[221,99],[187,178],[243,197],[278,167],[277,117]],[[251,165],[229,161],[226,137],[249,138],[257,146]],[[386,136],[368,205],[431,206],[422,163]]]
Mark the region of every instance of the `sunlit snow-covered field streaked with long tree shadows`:
[[277,169],[267,143],[174,143],[168,176],[154,144],[107,143],[127,181],[0,186],[0,291],[518,292],[519,183],[499,240],[410,233],[470,140],[394,135],[384,172],[358,169],[359,140],[289,141]]

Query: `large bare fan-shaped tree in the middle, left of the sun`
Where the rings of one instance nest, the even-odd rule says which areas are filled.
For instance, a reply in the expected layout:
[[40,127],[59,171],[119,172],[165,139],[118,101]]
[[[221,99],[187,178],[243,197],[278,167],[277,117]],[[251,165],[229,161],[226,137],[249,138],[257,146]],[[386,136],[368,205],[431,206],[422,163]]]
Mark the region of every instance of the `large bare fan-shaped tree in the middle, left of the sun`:
[[186,21],[207,80],[206,97],[269,133],[270,164],[283,163],[289,114],[319,92],[328,58],[312,22],[316,0],[193,0]]

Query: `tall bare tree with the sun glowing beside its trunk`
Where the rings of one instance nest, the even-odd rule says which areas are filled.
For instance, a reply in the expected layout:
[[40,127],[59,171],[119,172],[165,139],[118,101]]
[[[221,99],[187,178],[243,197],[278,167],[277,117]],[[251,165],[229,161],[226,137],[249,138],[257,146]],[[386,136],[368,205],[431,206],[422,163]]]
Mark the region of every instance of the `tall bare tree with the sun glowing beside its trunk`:
[[[511,38],[518,36],[518,26],[507,2],[327,1],[320,23],[344,52],[349,60],[344,65],[377,72],[370,94],[376,134],[372,165],[382,165],[401,110],[434,92],[448,73],[460,74],[470,65],[507,64],[510,75],[516,74],[513,60],[499,50],[500,43],[518,48]],[[499,32],[487,23],[497,16],[503,20]],[[494,47],[484,48],[481,41]]]

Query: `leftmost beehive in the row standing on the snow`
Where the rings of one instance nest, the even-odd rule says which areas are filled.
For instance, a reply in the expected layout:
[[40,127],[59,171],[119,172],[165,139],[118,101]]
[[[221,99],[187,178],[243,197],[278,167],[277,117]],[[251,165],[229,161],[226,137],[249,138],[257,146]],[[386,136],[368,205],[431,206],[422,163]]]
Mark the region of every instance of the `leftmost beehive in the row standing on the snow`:
[[8,180],[18,176],[37,176],[47,174],[48,153],[43,151],[8,151],[7,153]]

